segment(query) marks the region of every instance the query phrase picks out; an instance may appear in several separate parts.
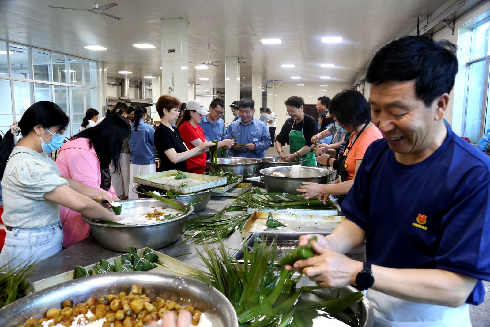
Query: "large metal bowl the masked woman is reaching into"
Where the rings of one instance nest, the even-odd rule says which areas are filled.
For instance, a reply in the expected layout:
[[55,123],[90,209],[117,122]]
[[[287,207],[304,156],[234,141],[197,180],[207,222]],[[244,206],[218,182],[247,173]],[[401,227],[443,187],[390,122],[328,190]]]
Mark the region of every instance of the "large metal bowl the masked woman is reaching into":
[[[174,200],[179,205],[186,206],[187,202]],[[134,207],[166,207],[172,205],[156,199],[138,199],[120,201],[122,210]],[[190,212],[193,208],[190,208]],[[147,225],[105,225],[95,223],[91,219],[82,216],[94,234],[97,242],[106,249],[112,251],[127,252],[130,247],[136,249],[151,248],[159,249],[172,244],[179,239],[184,231],[185,223],[189,214],[184,214],[178,218]]]

